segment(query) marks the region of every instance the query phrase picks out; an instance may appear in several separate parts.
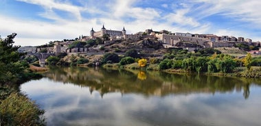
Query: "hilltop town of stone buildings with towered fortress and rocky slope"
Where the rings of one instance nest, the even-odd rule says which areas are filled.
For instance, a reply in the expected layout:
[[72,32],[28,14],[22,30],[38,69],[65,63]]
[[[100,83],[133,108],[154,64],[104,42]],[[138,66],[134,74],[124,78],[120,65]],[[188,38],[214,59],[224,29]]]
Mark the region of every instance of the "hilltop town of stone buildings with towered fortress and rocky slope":
[[[91,40],[97,44],[93,46]],[[82,45],[80,42],[90,42]],[[77,42],[77,43],[76,43]],[[74,43],[74,44],[73,44]],[[239,45],[239,46],[237,46]],[[198,51],[205,48],[249,46],[253,54],[261,54],[258,49],[260,42],[252,42],[251,38],[235,36],[216,36],[214,34],[190,34],[161,30],[146,29],[136,34],[126,34],[126,29],[111,30],[104,25],[99,31],[90,30],[89,36],[79,36],[73,40],[50,42],[49,45],[38,46],[36,52],[48,53],[104,53],[109,51],[124,53],[128,49],[145,51],[143,53],[164,53],[162,49],[182,48],[188,51]],[[161,49],[161,51],[157,51]],[[251,51],[254,50],[254,51]]]

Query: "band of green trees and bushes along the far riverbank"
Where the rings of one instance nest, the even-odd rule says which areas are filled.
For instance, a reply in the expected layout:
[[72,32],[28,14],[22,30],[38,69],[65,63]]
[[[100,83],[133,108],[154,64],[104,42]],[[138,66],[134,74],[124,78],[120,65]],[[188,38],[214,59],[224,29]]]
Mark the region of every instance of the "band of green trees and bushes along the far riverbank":
[[[108,60],[108,58],[110,58],[110,60]],[[149,70],[165,71],[168,69],[179,70],[179,72],[185,73],[234,73],[239,72],[235,69],[240,68],[241,66],[245,66],[247,71],[253,71],[251,66],[260,66],[260,59],[261,57],[251,58],[250,53],[248,53],[245,58],[238,59],[211,48],[202,49],[195,53],[189,53],[183,49],[172,49],[163,55],[162,60],[149,58],[148,65],[141,65],[142,63],[141,60],[139,60],[137,51],[135,49],[130,49],[126,51],[124,57],[119,57],[115,53],[106,53],[104,55],[103,63],[119,63],[117,65],[126,68],[141,68],[142,66],[147,66],[147,69]],[[113,60],[113,62],[111,62],[111,60]],[[134,62],[138,62],[139,64],[133,64]],[[246,74],[242,75],[242,73],[238,75],[243,77],[246,76]],[[258,73],[251,76],[259,77]]]

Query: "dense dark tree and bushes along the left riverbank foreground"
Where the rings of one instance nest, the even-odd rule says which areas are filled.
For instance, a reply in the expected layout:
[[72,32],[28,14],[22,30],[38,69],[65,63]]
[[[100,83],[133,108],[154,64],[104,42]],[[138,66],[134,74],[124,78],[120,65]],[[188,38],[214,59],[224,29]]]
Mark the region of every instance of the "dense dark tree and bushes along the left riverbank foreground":
[[32,60],[21,60],[15,36],[0,39],[0,125],[45,125],[43,110],[18,91],[21,82],[41,75],[29,70],[27,60]]

